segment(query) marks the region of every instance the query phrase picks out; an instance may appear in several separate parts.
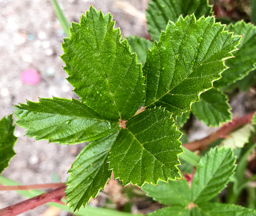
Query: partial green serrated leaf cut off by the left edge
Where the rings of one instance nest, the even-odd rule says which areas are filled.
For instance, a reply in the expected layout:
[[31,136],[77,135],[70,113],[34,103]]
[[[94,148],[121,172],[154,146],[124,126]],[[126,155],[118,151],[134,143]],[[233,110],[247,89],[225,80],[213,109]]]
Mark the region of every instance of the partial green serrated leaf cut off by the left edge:
[[13,147],[17,137],[14,136],[14,130],[12,115],[0,120],[0,174],[9,166],[10,160],[15,155]]

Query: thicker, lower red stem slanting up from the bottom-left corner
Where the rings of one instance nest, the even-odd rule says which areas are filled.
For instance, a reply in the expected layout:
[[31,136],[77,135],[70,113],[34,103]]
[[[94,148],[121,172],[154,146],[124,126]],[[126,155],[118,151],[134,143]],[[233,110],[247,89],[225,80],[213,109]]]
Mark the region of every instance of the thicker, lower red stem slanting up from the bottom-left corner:
[[61,200],[61,198],[65,196],[65,189],[66,186],[63,185],[54,190],[50,190],[49,192],[45,192],[39,196],[16,203],[4,209],[0,209],[0,216],[15,216],[30,209],[34,209],[40,205],[46,204],[47,202]]

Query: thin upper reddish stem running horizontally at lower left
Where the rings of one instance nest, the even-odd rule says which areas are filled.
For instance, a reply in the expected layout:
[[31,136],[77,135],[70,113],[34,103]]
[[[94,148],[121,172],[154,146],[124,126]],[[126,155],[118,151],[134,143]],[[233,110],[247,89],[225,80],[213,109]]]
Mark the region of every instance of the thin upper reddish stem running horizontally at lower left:
[[0,190],[31,190],[31,189],[59,188],[63,185],[65,185],[65,183],[15,185],[15,186],[1,186],[0,185]]

